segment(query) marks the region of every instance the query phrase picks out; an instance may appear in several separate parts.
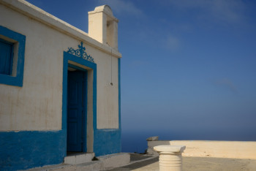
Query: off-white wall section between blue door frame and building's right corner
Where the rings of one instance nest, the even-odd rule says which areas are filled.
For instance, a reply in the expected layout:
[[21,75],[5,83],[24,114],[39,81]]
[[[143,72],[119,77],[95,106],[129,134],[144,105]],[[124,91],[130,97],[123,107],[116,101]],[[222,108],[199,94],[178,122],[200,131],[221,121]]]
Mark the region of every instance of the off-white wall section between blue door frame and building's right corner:
[[112,58],[111,83],[111,56],[102,58],[97,65],[97,129],[118,129],[118,59]]

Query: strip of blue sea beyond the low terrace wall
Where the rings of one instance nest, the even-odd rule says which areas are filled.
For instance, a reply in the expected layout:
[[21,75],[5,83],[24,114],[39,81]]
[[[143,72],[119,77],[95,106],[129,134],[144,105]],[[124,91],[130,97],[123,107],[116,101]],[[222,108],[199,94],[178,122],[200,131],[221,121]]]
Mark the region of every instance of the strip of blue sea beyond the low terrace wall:
[[121,134],[121,150],[127,153],[144,153],[148,137],[159,136],[159,140],[225,140],[256,141],[255,129],[188,129],[188,130],[123,130]]

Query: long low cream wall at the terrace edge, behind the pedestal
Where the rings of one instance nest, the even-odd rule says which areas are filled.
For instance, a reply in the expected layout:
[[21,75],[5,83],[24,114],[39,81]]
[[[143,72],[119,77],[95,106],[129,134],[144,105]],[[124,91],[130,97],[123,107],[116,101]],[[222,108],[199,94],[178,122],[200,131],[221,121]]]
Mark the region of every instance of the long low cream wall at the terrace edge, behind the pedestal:
[[182,153],[182,156],[256,159],[256,142],[252,141],[148,141],[148,153],[157,155],[153,150],[154,146],[157,145],[186,145],[186,149],[184,153]]

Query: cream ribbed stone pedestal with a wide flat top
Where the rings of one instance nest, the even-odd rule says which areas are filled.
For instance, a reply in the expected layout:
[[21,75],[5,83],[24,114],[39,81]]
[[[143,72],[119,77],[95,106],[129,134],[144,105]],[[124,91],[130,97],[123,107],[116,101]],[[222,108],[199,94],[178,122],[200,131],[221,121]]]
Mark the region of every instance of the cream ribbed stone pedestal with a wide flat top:
[[181,171],[184,145],[158,145],[154,151],[159,153],[159,171]]

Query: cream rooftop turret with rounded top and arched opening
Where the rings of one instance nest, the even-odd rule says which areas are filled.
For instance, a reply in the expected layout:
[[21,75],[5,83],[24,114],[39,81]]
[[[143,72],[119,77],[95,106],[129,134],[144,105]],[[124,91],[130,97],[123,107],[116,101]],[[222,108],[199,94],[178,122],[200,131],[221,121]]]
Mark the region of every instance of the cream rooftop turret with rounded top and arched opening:
[[118,50],[118,19],[108,5],[96,7],[89,14],[89,37]]

